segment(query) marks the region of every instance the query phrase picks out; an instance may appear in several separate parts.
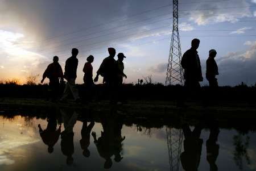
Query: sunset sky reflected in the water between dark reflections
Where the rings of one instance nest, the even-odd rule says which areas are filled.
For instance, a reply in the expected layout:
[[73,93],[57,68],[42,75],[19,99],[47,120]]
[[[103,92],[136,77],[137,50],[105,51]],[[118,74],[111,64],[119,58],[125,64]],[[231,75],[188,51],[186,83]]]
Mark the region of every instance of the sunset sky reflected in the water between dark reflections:
[[[31,122],[17,116],[13,120],[0,118],[0,170],[102,170],[105,160],[102,159],[97,151],[93,138],[90,137],[90,157],[85,158],[82,155],[80,147],[82,123],[77,122],[73,131],[75,152],[73,154],[74,164],[67,166],[65,164],[66,156],[61,153],[60,139],[54,146],[52,154],[47,152],[47,146],[42,142],[38,123],[43,130],[47,126],[46,120],[33,119]],[[61,131],[63,131],[63,127]],[[102,126],[96,123],[93,131],[97,137],[100,136]],[[218,137],[220,152],[217,158],[218,170],[238,170],[233,160],[233,136],[238,133],[234,130],[221,130]],[[122,136],[126,136],[123,141],[123,159],[121,162],[113,160],[113,166],[110,170],[169,170],[168,150],[166,144],[165,129],[151,129],[150,136],[148,132],[137,132],[137,128],[122,128]],[[249,134],[250,144],[247,150],[251,164],[243,162],[244,170],[255,170],[256,159],[256,136]],[[199,170],[209,170],[209,164],[206,160],[206,141],[209,137],[209,130],[203,130],[201,138],[203,147]],[[183,148],[182,148],[183,151]]]

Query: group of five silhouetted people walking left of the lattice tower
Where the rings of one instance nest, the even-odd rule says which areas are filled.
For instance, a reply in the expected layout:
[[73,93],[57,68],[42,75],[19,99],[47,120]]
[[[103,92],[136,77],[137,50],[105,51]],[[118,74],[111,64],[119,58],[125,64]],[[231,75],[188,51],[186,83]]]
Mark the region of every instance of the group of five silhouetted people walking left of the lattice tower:
[[[108,48],[109,56],[106,57],[100,68],[97,71],[97,76],[93,79],[93,66],[92,62],[94,57],[92,55],[87,57],[87,62],[84,65],[84,84],[86,86],[87,92],[92,92],[94,82],[98,81],[98,77],[103,77],[103,82],[107,87],[109,87],[109,93],[111,94],[115,88],[118,86],[122,86],[123,77],[127,78],[126,74],[123,73],[124,65],[123,59],[126,58],[123,53],[118,53],[118,60],[115,60],[115,49]],[[41,83],[44,82],[45,78],[49,78],[49,96],[52,96],[53,100],[57,100],[59,94],[59,87],[61,82],[67,80],[67,84],[65,85],[64,93],[60,98],[61,102],[65,102],[69,94],[73,95],[73,98],[76,102],[80,102],[79,91],[76,87],[75,81],[77,78],[77,66],[78,59],[77,55],[79,54],[79,50],[76,48],[72,49],[72,56],[67,59],[65,62],[65,72],[63,74],[63,70],[59,64],[59,57],[54,56],[52,64],[49,64],[45,72],[43,73],[43,79]],[[113,94],[113,93],[112,93]]]

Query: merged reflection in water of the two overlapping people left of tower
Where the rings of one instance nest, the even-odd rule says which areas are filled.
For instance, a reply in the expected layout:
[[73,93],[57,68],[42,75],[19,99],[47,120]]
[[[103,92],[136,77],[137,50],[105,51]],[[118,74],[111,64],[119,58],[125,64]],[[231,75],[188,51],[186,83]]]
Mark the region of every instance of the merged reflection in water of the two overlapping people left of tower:
[[122,137],[122,123],[115,116],[112,118],[101,118],[101,124],[103,128],[101,137],[97,139],[96,132],[92,132],[92,136],[98,153],[105,159],[104,168],[109,169],[113,164],[111,159],[113,155],[115,162],[120,162],[123,159],[120,153],[122,151],[122,141],[125,140],[125,136]]

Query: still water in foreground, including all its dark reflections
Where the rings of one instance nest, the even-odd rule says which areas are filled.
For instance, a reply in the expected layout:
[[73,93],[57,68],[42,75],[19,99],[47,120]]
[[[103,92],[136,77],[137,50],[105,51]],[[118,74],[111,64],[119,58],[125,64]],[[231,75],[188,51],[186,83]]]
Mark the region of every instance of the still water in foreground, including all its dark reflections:
[[254,131],[82,118],[65,110],[0,115],[0,170],[256,170]]

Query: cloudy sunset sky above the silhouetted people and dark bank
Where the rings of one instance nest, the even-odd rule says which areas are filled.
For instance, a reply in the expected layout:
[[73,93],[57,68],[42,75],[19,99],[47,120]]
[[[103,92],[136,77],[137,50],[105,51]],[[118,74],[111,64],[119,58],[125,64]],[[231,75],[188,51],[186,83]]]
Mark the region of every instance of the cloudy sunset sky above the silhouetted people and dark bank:
[[[78,48],[77,83],[86,57],[94,56],[93,75],[114,47],[127,57],[127,79],[152,76],[164,83],[172,31],[172,1],[0,0],[0,80],[42,77],[53,56],[64,69],[71,49]],[[181,53],[191,40],[198,49],[204,81],[205,61],[216,49],[219,85],[256,82],[256,1],[179,0]],[[117,59],[117,57],[115,57]]]

